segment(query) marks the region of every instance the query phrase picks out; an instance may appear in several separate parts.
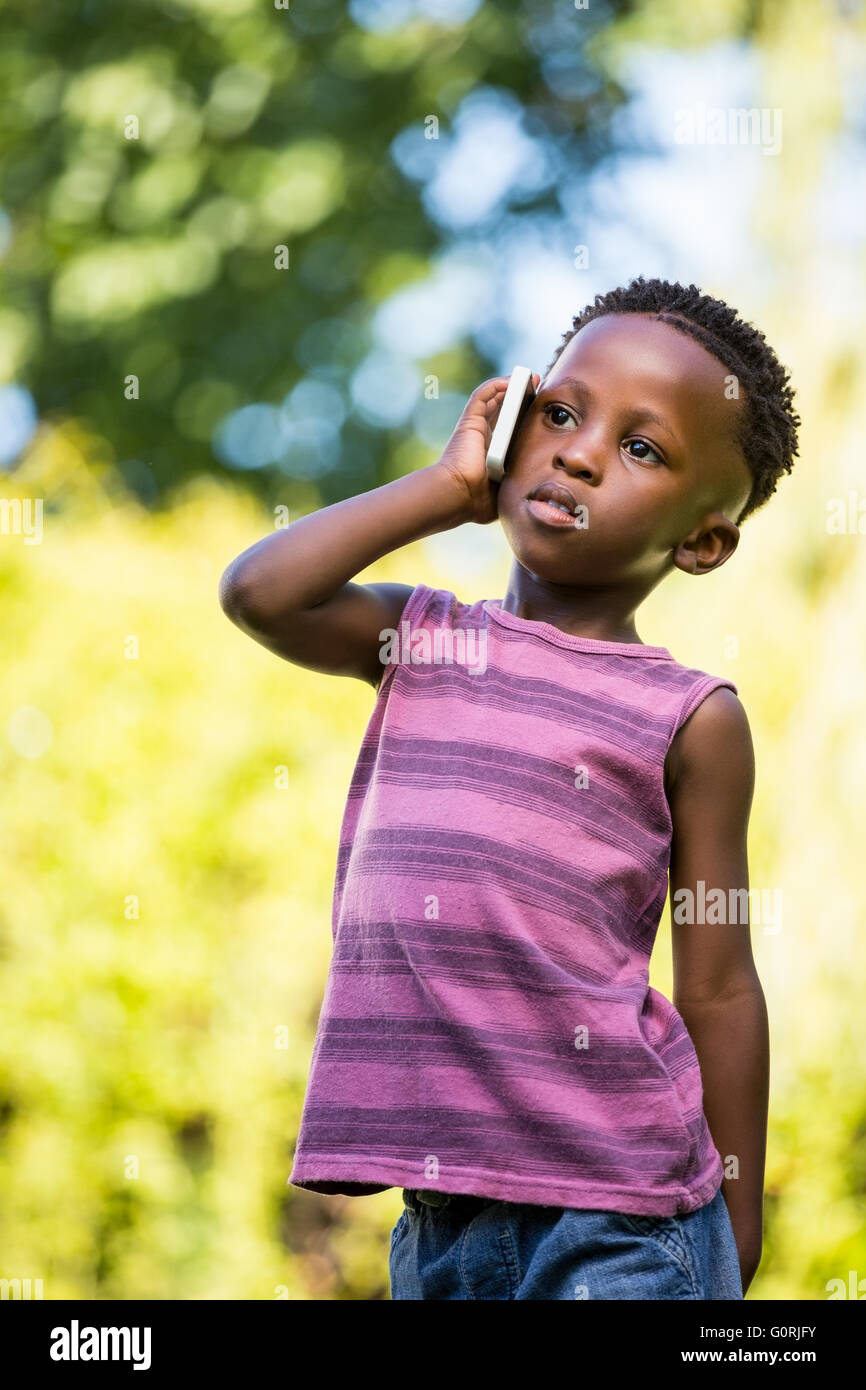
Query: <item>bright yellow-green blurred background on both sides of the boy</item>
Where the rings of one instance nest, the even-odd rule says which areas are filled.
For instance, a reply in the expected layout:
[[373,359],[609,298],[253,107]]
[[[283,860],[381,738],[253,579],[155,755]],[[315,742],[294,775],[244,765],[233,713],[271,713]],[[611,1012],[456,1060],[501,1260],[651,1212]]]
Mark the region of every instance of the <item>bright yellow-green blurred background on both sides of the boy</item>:
[[[752,885],[783,891],[783,930],[753,934],[773,1049],[756,1300],[866,1277],[866,560],[862,535],[826,527],[862,478],[866,374],[810,231],[841,120],[827,8],[781,7],[770,26],[765,99],[798,146],[748,229],[783,271],[760,327],[785,343],[801,459],[719,574],[676,574],[638,619],[645,642],[737,682],[758,759]],[[671,3],[642,22],[684,43],[694,15]],[[860,292],[862,259],[849,272]],[[737,303],[735,284],[712,288]],[[224,617],[222,569],[274,525],[242,482],[200,478],[150,512],[86,421],[54,418],[4,495],[50,510],[39,546],[0,538],[0,1275],[42,1277],[49,1298],[386,1298],[399,1191],[286,1186],[371,692]],[[502,537],[471,570],[431,541],[364,577],[470,599],[500,595],[507,562]],[[51,724],[38,758],[10,735],[24,706]],[[669,940],[664,919],[664,992]]]

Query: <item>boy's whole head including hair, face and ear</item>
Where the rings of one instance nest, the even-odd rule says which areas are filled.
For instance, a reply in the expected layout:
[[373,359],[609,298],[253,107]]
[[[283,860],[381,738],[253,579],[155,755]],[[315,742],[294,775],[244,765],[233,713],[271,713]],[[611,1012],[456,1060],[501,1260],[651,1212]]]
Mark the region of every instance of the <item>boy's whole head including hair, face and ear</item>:
[[[788,374],[763,334],[694,285],[642,278],[573,321],[521,421],[499,517],[524,569],[552,584],[706,573],[796,455]],[[585,507],[556,525],[532,493]]]

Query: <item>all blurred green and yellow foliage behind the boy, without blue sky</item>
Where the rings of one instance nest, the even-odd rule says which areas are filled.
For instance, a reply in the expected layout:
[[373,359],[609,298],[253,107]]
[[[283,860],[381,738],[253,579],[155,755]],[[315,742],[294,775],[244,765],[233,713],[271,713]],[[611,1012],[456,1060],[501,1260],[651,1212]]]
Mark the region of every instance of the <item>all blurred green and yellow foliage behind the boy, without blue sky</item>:
[[[858,485],[866,391],[862,320],[830,275],[856,302],[863,247],[830,254],[813,231],[855,38],[830,8],[624,6],[596,46],[614,71],[630,43],[748,32],[794,138],[744,235],[771,246],[784,289],[760,327],[794,371],[801,459],[719,574],[674,575],[638,619],[644,641],[737,682],[758,758],[752,884],[784,894],[783,930],[753,931],[773,1040],[753,1298],[866,1277],[866,560],[856,528],[826,525]],[[388,1297],[399,1193],[286,1186],[371,692],[281,663],[217,603],[225,564],[274,524],[263,495],[292,516],[334,495],[227,485],[209,425],[292,384],[322,296],[361,353],[371,306],[424,268],[438,234],[384,152],[431,93],[452,82],[456,101],[489,78],[542,107],[549,95],[523,51],[524,6],[392,38],[325,0],[299,10],[293,29],[245,0],[11,3],[0,18],[15,218],[0,366],[43,411],[4,496],[46,509],[40,545],[0,543],[0,1277],[42,1277],[47,1298]],[[603,129],[614,78],[601,92]],[[135,149],[118,138],[129,107],[147,118]],[[293,178],[304,192],[286,206]],[[297,274],[274,289],[286,235]],[[735,284],[708,288],[738,303]],[[152,391],[133,420],[126,371]],[[379,434],[364,485],[395,448]],[[150,491],[118,474],[132,457]],[[474,598],[502,595],[507,567],[496,528],[466,528],[363,578]],[[652,970],[670,995],[667,917]]]

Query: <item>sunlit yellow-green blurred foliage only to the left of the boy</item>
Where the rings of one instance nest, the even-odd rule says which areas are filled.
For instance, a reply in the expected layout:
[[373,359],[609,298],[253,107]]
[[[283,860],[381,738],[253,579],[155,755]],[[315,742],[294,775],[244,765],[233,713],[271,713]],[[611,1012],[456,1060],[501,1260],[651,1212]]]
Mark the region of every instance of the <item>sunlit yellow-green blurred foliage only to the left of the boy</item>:
[[286,1186],[364,691],[227,623],[249,502],[210,484],[154,518],[74,438],[29,467],[74,514],[0,552],[6,723],[53,726],[42,756],[3,752],[1,1273],[50,1298],[384,1297],[382,1205]]

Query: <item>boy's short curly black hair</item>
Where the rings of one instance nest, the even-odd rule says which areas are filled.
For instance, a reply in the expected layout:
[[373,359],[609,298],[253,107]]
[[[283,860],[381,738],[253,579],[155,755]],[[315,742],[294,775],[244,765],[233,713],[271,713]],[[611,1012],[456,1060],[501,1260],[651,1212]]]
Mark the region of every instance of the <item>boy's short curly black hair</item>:
[[752,491],[737,517],[737,525],[741,525],[776,492],[781,475],[791,473],[798,452],[796,431],[802,423],[794,411],[790,374],[765,335],[752,324],[744,322],[721,299],[702,295],[696,285],[644,279],[638,275],[626,286],[596,295],[577,314],[571,328],[563,334],[545,377],[574,335],[603,314],[655,314],[662,322],[699,342],[737,377],[745,395],[737,442],[752,474]]

